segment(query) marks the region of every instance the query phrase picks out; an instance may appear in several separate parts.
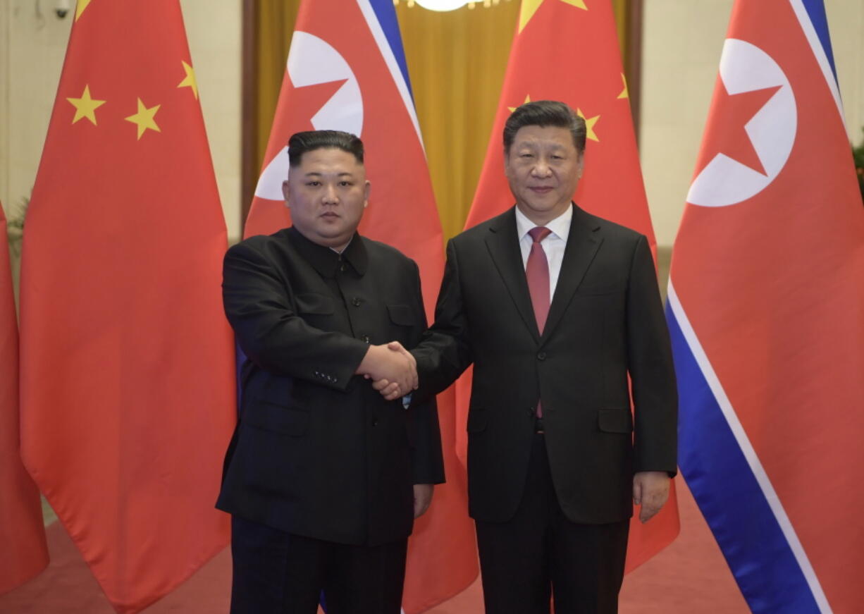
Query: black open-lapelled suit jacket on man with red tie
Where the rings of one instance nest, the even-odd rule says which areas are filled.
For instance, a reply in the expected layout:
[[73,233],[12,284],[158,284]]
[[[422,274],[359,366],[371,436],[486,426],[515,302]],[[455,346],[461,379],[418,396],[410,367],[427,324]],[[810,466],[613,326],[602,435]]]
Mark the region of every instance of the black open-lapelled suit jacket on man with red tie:
[[645,236],[574,205],[542,335],[513,208],[454,237],[447,258],[435,324],[414,351],[416,398],[473,362],[471,515],[497,522],[515,514],[542,399],[565,515],[585,524],[630,517],[633,473],[676,471],[675,374]]

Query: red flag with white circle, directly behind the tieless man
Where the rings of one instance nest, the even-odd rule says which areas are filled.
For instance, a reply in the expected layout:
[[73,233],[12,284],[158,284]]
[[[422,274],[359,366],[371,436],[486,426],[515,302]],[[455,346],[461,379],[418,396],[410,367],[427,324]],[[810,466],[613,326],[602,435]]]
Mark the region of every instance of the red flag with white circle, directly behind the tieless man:
[[[288,138],[302,130],[344,130],[363,139],[369,208],[359,231],[420,266],[427,313],[443,273],[441,222],[410,95],[392,0],[307,0],[291,41],[264,169],[245,235],[289,226],[282,196]],[[465,468],[454,451],[454,393],[438,396],[447,483],[411,536],[403,594],[408,614],[428,610],[477,577]]]

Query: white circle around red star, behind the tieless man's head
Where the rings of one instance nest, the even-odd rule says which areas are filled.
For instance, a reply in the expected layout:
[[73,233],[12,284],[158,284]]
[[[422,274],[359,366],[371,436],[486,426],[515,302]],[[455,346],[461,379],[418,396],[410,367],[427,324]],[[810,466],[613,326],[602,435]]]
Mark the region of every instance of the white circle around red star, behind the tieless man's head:
[[[312,116],[315,130],[341,130],[360,136],[363,131],[363,97],[351,66],[334,47],[308,32],[295,30],[288,52],[286,78],[295,89],[346,80]],[[291,112],[290,108],[282,112]],[[285,135],[287,139],[290,135]],[[282,182],[288,176],[288,147],[283,147],[264,167],[255,187],[258,198],[283,200]]]

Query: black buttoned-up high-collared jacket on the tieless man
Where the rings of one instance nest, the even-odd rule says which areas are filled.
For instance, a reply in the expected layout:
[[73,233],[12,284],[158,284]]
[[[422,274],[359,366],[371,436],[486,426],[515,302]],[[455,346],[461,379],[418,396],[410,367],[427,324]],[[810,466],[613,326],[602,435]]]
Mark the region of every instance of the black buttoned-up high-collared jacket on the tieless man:
[[321,540],[410,534],[415,483],[441,483],[435,401],[404,409],[354,375],[368,343],[426,328],[413,260],[356,234],[340,255],[294,227],[233,246],[226,315],[247,361],[217,507]]

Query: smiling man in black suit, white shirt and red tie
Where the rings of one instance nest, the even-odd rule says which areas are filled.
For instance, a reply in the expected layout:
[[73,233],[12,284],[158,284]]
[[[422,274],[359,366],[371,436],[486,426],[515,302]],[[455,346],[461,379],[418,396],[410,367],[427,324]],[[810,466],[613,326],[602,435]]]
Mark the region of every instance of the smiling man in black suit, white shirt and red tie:
[[547,613],[550,592],[557,614],[617,611],[632,502],[648,520],[676,471],[651,251],[571,202],[584,149],[584,120],[562,103],[511,114],[516,207],[449,242],[435,324],[413,351],[416,401],[474,365],[468,488],[489,614]]

